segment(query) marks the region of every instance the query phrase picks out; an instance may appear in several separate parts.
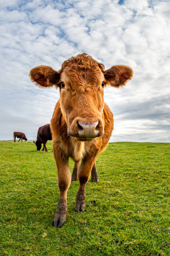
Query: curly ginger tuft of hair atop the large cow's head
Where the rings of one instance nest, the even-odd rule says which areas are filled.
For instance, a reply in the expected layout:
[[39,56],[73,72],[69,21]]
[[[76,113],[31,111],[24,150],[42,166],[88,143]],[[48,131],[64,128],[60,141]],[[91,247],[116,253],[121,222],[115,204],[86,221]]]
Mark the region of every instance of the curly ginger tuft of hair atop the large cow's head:
[[71,57],[64,61],[59,72],[62,72],[65,69],[65,67],[69,66],[70,64],[75,64],[80,69],[89,69],[94,65],[98,65],[98,67],[101,69],[103,73],[105,70],[105,66],[102,63],[95,61],[95,59],[93,59],[92,56],[83,53],[78,54],[77,56]]

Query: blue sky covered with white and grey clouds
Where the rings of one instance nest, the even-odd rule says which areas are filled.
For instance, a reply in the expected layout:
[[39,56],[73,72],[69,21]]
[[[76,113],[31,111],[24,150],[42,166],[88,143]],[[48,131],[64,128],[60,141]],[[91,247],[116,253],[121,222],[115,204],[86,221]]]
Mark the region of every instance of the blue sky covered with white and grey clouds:
[[133,79],[106,88],[114,115],[110,141],[170,142],[169,0],[0,0],[0,140],[22,131],[35,139],[60,95],[36,87],[32,67],[60,69],[86,52],[125,64]]

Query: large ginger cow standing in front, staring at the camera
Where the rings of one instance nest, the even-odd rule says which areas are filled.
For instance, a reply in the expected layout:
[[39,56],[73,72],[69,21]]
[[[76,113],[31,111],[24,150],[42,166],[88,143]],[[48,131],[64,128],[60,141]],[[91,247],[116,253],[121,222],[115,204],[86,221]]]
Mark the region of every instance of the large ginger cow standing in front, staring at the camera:
[[68,159],[81,161],[78,167],[79,189],[75,212],[85,209],[85,187],[98,154],[103,151],[113,129],[113,116],[104,103],[104,87],[122,87],[133,76],[130,67],[104,65],[87,54],[63,62],[61,69],[38,66],[30,78],[40,87],[60,88],[60,100],[51,119],[53,153],[57,165],[60,197],[54,225],[60,228],[67,216],[67,190],[71,175]]

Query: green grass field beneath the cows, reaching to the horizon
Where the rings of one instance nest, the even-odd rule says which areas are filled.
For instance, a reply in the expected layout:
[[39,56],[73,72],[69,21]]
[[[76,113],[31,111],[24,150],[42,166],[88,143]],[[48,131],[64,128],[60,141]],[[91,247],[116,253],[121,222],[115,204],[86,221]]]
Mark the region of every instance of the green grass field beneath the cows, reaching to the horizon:
[[170,255],[170,143],[110,143],[84,213],[71,183],[62,228],[52,226],[59,190],[47,148],[0,141],[0,255]]

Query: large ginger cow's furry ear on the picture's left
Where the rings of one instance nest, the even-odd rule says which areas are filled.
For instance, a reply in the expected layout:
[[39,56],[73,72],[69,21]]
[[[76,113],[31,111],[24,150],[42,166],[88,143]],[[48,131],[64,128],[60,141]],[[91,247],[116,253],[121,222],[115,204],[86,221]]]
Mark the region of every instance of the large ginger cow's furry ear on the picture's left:
[[30,70],[30,79],[37,86],[49,87],[59,82],[60,73],[48,66],[38,66]]

